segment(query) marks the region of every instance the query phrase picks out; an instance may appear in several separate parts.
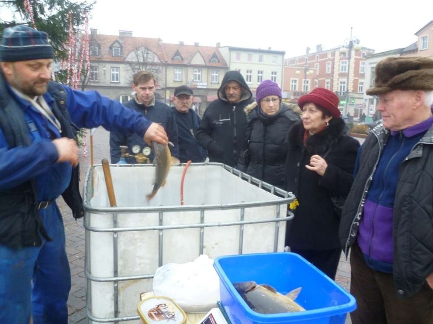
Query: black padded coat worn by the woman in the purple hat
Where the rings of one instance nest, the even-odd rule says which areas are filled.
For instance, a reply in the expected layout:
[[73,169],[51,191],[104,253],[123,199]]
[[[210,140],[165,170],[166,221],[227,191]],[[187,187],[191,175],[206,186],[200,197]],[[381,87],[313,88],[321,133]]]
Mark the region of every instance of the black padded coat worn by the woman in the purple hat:
[[273,116],[263,113],[257,103],[247,110],[248,124],[245,130],[246,147],[238,163],[238,169],[272,186],[284,189],[285,163],[290,128],[299,121],[299,115],[285,104]]

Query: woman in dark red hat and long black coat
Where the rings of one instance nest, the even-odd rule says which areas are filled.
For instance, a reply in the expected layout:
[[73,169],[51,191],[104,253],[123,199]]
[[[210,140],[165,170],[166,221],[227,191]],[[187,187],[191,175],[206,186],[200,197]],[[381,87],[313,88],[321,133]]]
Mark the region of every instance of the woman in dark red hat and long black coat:
[[347,135],[332,91],[316,88],[298,105],[302,120],[289,131],[286,189],[299,206],[288,224],[286,245],[335,279],[340,215],[332,199],[349,193],[359,142]]

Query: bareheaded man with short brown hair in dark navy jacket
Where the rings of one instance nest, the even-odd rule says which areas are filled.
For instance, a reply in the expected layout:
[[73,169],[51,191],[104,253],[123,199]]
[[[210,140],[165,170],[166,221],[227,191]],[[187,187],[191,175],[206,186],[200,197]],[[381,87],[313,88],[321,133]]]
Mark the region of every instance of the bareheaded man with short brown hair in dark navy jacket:
[[[147,120],[158,123],[164,127],[167,132],[168,140],[173,144],[169,146],[171,156],[179,158],[177,124],[174,120],[174,114],[170,107],[155,98],[154,93],[157,90],[157,79],[150,71],[139,71],[134,75],[132,89],[135,92],[133,99],[125,103],[126,107],[139,112]],[[127,146],[128,153],[135,155],[137,151],[142,152],[147,146],[146,142],[134,133],[125,134],[124,132],[110,132],[110,155],[111,163],[117,163],[120,159],[120,146]],[[133,147],[139,150],[133,150]],[[153,161],[153,152],[149,155],[150,162]],[[127,163],[137,163],[135,158],[126,158]]]

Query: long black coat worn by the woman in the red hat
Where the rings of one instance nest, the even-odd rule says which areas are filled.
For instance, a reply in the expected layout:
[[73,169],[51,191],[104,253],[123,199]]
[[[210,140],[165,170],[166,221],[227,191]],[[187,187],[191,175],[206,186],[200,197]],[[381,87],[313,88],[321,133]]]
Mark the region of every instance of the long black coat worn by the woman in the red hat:
[[[339,218],[331,202],[331,190],[347,195],[353,181],[353,171],[359,142],[346,135],[341,118],[333,118],[319,133],[311,135],[303,146],[305,129],[296,123],[289,132],[286,162],[287,191],[295,194],[299,206],[288,224],[286,245],[297,249],[330,250],[340,246]],[[326,172],[320,176],[308,170],[312,155],[323,155],[332,147],[325,160]]]

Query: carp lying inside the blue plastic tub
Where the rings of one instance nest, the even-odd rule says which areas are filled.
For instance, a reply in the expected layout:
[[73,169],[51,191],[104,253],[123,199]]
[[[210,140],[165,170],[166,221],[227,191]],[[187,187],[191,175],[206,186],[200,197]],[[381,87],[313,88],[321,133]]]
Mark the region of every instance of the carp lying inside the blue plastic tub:
[[305,310],[294,301],[301,287],[283,295],[271,285],[257,284],[255,281],[235,282],[233,285],[245,303],[257,313],[278,314]]

